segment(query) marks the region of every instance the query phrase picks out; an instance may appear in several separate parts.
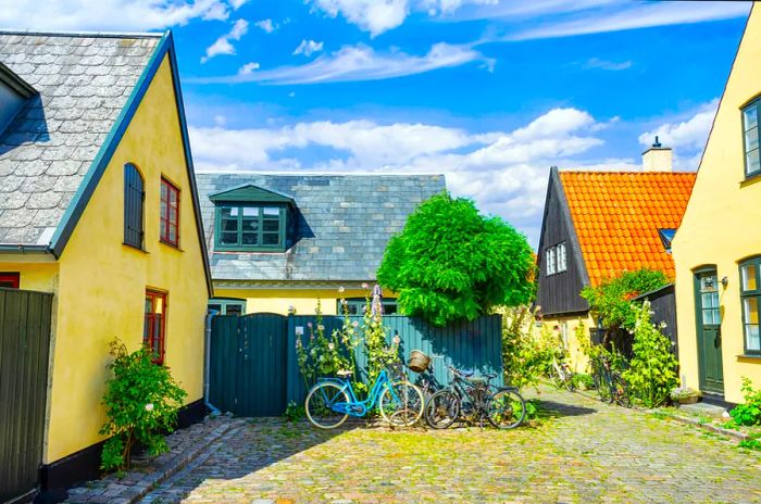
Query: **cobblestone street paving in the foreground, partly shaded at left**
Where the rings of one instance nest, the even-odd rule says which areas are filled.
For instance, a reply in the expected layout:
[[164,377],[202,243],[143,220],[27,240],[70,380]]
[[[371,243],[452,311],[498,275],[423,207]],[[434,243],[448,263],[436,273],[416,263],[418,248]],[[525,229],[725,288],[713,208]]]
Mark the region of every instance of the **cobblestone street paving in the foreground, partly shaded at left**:
[[752,503],[761,454],[693,426],[542,389],[512,431],[251,420],[144,503]]

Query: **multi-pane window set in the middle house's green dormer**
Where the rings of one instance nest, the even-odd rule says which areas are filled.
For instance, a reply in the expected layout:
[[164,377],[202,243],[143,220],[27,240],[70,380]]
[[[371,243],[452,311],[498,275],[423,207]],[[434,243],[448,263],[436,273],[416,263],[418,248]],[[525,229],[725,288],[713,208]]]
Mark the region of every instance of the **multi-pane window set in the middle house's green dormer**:
[[285,209],[222,204],[216,207],[216,250],[284,250]]

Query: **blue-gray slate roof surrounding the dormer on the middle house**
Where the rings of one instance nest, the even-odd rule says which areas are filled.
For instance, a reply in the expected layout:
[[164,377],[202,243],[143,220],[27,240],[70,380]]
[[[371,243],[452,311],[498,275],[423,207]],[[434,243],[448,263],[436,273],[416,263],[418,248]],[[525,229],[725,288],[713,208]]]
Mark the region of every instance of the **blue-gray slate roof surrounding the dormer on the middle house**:
[[211,254],[215,280],[373,280],[389,238],[423,200],[445,190],[442,175],[197,174],[209,250],[209,196],[251,184],[292,196],[301,217],[285,253]]

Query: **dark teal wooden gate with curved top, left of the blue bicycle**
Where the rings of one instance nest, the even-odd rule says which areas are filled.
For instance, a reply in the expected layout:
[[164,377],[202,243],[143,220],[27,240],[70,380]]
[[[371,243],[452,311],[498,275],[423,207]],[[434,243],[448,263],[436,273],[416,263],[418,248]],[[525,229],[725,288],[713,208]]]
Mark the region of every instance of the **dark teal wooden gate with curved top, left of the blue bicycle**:
[[286,408],[288,318],[274,313],[212,318],[209,399],[239,416]]

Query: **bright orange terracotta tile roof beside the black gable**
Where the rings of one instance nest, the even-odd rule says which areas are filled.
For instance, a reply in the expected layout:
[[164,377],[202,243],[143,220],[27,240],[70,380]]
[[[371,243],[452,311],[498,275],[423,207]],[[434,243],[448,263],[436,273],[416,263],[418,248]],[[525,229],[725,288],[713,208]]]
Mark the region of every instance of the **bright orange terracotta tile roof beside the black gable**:
[[623,270],[660,269],[674,278],[674,261],[659,229],[676,229],[695,173],[560,172],[560,180],[589,281]]

